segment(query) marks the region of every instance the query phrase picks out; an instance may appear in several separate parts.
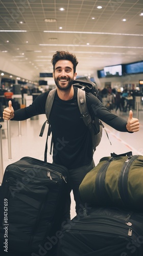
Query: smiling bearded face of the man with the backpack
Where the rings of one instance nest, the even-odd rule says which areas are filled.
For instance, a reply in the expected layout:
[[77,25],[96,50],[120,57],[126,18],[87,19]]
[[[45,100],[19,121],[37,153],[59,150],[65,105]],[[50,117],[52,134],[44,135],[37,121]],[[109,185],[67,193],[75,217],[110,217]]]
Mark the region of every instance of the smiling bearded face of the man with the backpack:
[[76,79],[76,75],[77,73],[74,74],[73,63],[70,60],[61,59],[57,61],[53,77],[59,90],[68,90],[73,80]]

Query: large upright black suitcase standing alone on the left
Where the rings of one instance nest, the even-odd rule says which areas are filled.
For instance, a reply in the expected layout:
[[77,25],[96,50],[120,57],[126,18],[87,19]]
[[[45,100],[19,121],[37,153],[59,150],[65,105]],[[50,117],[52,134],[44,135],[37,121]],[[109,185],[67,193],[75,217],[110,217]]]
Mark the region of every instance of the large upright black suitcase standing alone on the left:
[[19,255],[53,255],[60,236],[66,188],[64,166],[31,157],[8,165],[0,189],[1,253],[8,248],[9,253],[15,250]]

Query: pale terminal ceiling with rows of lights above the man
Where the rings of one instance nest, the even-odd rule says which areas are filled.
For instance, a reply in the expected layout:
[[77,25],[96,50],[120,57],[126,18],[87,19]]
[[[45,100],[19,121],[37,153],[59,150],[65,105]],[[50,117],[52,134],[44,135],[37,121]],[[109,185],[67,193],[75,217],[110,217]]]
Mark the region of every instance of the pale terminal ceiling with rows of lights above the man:
[[140,61],[142,12],[143,0],[0,0],[0,70],[39,80],[39,73],[53,72],[51,59],[58,50],[76,54],[78,75]]

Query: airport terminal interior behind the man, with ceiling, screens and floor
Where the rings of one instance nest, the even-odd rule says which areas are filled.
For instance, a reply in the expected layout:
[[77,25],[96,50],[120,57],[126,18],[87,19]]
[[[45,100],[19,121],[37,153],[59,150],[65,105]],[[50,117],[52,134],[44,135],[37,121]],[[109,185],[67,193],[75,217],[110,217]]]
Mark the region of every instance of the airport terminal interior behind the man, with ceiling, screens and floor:
[[[7,121],[3,110],[10,98],[14,109],[25,108],[55,88],[51,59],[56,51],[76,55],[77,78],[96,83],[105,106],[113,95],[113,114],[128,120],[130,109],[139,119],[137,133],[118,132],[103,122],[95,164],[111,153],[143,155],[142,28],[143,0],[0,0],[0,184],[9,164],[25,156],[44,160],[48,124],[39,134],[46,116]],[[125,92],[124,108],[116,111],[116,95]],[[52,163],[50,145],[51,136],[47,162]],[[72,191],[70,215],[76,216]]]

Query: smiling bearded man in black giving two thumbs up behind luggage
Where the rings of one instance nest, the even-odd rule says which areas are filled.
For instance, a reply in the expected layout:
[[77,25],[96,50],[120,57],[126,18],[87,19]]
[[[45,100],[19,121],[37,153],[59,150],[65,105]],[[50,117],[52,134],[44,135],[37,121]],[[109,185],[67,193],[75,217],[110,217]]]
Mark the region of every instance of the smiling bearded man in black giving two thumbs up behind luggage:
[[[76,201],[76,211],[82,207],[79,197],[79,185],[85,175],[94,167],[93,151],[90,132],[84,124],[77,102],[77,88],[73,87],[76,79],[77,58],[74,54],[57,51],[53,58],[53,77],[57,86],[50,123],[53,135],[53,161],[64,165],[69,170],[68,207],[70,205],[70,191],[73,189]],[[14,111],[11,101],[9,108],[3,112],[5,120],[25,120],[34,115],[45,114],[45,101],[49,92],[39,95],[34,102],[25,109]],[[133,118],[130,111],[128,121],[113,115],[94,95],[86,94],[87,108],[91,116],[99,119],[121,132],[139,131],[138,119]],[[59,146],[61,141],[61,146]],[[70,208],[70,207],[69,207]]]

